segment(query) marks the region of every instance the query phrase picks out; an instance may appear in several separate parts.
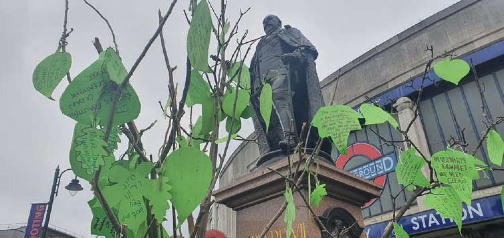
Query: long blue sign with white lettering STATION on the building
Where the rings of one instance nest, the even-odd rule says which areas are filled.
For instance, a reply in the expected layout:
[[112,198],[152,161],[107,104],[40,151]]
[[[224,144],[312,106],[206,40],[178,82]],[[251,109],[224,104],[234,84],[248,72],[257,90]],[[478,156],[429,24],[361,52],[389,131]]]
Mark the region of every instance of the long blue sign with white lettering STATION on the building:
[[[462,206],[462,224],[504,217],[500,195],[472,201],[471,206]],[[367,238],[380,238],[389,222],[366,226]],[[455,227],[451,219],[442,218],[435,210],[404,216],[399,222],[409,235]],[[394,237],[393,235],[389,237]]]

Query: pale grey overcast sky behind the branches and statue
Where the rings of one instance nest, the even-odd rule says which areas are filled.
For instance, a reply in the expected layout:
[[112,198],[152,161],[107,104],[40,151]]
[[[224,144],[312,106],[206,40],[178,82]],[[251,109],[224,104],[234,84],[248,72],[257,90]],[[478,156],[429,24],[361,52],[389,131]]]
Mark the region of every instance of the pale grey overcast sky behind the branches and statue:
[[[166,12],[171,2],[161,0],[90,0],[109,19],[117,43],[129,69],[157,28],[157,10]],[[61,114],[59,104],[38,93],[32,85],[32,72],[38,62],[52,54],[62,32],[64,0],[0,0],[0,224],[26,222],[30,203],[47,202],[54,169],[69,168],[68,153],[75,121]],[[218,2],[212,0],[214,6]],[[244,17],[240,32],[249,37],[263,34],[261,21],[276,14],[283,24],[300,29],[319,50],[320,80],[341,66],[393,37],[430,15],[454,4],[456,0],[229,0],[228,17],[233,24],[239,8],[252,9]],[[165,25],[171,64],[177,82],[185,73],[185,41],[188,25],[183,10],[187,0],[178,1]],[[96,58],[91,44],[99,37],[103,46],[112,45],[105,23],[81,0],[70,1],[68,52],[72,54],[71,75],[75,76]],[[140,97],[142,110],[136,120],[145,128],[154,120],[156,126],[144,135],[148,153],[157,154],[166,122],[158,101],[168,97],[167,71],[156,41],[131,79]],[[62,81],[53,97],[58,100],[68,84]],[[179,86],[181,88],[182,86]],[[244,122],[242,136],[252,130]],[[123,142],[125,138],[123,138]],[[232,146],[235,148],[236,144]],[[123,152],[123,151],[121,151]],[[61,184],[72,179],[67,172]],[[61,188],[55,199],[51,223],[92,237],[92,219],[87,201],[92,198],[90,185],[81,180],[84,191],[75,197]],[[171,223],[167,222],[167,223]]]

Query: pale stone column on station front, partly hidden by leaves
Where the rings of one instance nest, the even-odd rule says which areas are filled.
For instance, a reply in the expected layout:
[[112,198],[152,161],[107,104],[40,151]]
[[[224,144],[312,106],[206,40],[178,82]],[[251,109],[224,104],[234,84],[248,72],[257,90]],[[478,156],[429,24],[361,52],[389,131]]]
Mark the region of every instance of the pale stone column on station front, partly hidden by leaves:
[[[401,130],[406,130],[411,120],[413,120],[413,118],[415,117],[415,110],[417,105],[413,101],[411,101],[410,98],[401,97],[396,101],[396,103],[394,103],[393,106],[398,112],[399,128],[401,128]],[[411,125],[408,131],[408,137],[418,147],[418,150],[421,151],[428,160],[430,160],[430,151],[427,144],[427,137],[425,136],[425,131],[423,129],[420,116],[418,116]],[[404,143],[404,147],[409,148],[406,142]],[[423,167],[422,171],[425,177],[429,178],[429,168],[425,166]],[[425,208],[423,205],[424,200],[424,196],[417,198],[418,206],[421,209]]]

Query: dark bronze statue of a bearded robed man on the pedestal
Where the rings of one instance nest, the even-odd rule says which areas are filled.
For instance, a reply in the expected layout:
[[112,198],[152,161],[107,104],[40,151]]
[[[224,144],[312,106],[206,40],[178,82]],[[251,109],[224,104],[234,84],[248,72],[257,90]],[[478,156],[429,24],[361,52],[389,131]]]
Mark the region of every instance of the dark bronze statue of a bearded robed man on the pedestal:
[[[259,152],[262,156],[269,152],[294,148],[299,141],[304,122],[311,123],[317,110],[324,106],[319,78],[315,68],[318,52],[315,46],[298,29],[285,25],[275,15],[263,20],[266,35],[259,41],[250,64],[252,81],[253,117]],[[275,77],[268,78],[268,72]],[[273,88],[273,113],[269,130],[260,115],[259,94],[262,81]],[[292,127],[291,127],[292,126]],[[312,128],[308,148],[317,141],[317,132]],[[307,129],[306,129],[307,131]],[[306,133],[306,132],[305,132]],[[323,150],[330,152],[329,142]]]

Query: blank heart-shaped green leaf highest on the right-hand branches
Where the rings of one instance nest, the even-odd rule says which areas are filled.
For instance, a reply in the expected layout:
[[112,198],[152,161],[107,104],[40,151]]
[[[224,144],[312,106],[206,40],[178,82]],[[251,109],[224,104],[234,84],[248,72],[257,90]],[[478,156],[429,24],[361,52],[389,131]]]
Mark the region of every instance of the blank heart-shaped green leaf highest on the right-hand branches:
[[448,57],[434,65],[434,72],[437,76],[456,85],[469,73],[469,69],[469,64],[464,60],[450,60]]

